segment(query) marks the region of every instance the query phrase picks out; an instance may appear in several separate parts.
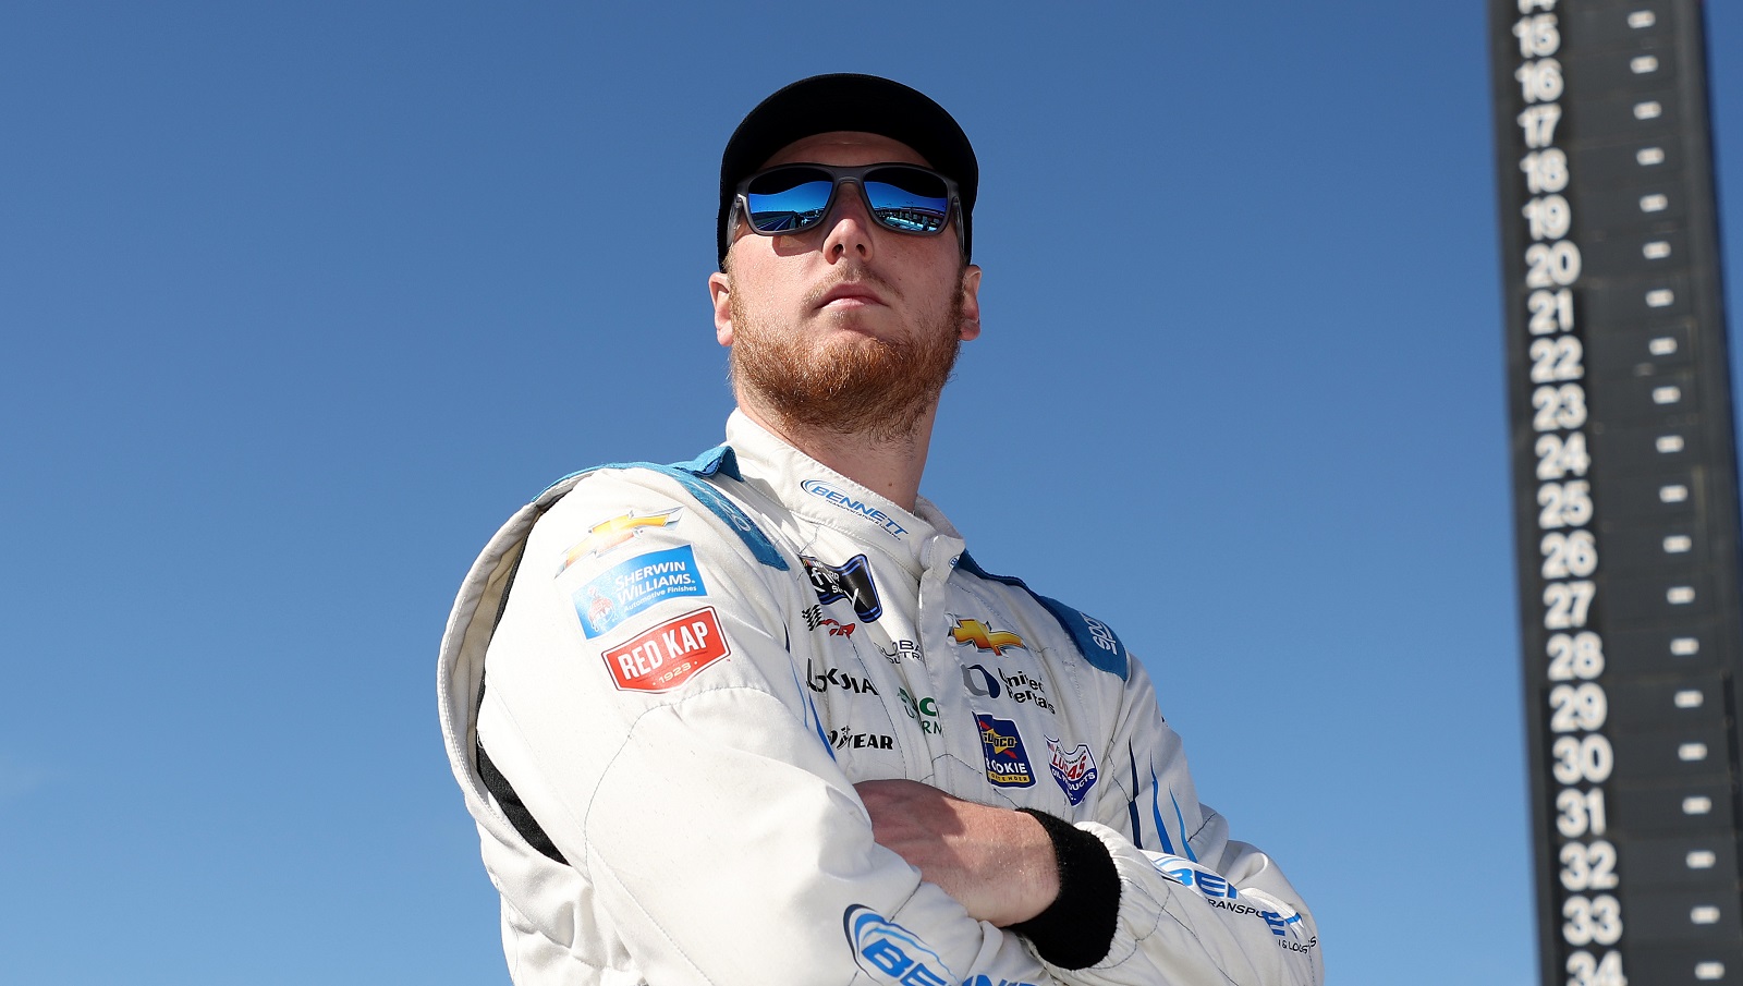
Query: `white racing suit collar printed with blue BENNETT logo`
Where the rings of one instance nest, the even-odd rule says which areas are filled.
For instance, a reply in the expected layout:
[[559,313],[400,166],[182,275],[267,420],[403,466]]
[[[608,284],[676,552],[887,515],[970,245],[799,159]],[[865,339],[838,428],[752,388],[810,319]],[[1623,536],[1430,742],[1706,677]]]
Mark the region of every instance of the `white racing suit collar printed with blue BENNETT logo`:
[[807,521],[880,549],[913,575],[953,564],[962,554],[962,535],[926,496],[917,496],[912,512],[905,510],[770,434],[744,411],[734,409],[727,418],[727,444],[746,483]]

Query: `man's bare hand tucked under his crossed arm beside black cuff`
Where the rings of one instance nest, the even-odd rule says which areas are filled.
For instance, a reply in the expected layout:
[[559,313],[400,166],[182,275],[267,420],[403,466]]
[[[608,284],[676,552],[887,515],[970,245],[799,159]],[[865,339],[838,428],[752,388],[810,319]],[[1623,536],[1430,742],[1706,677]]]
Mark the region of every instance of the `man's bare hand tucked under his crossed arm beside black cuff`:
[[969,916],[1007,927],[1060,895],[1053,840],[1034,817],[952,798],[919,780],[863,780],[854,791],[877,843],[943,887]]

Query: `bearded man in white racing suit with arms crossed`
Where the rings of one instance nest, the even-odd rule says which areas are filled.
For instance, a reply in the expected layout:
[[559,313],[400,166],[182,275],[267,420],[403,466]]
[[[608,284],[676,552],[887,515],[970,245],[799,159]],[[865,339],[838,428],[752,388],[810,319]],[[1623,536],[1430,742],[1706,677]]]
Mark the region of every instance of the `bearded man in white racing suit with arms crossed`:
[[708,279],[727,444],[568,477],[474,564],[443,732],[516,983],[1323,979],[1117,634],[919,496],[976,183],[905,85],[765,99]]

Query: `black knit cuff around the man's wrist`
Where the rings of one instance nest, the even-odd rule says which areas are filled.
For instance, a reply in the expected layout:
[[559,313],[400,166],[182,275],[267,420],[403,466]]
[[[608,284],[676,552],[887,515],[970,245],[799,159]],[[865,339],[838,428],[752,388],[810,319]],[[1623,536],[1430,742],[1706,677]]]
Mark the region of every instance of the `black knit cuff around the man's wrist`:
[[1060,969],[1089,969],[1107,958],[1119,922],[1119,869],[1102,840],[1046,812],[1032,815],[1053,840],[1060,895],[1046,911],[1009,930],[1027,937],[1041,958]]

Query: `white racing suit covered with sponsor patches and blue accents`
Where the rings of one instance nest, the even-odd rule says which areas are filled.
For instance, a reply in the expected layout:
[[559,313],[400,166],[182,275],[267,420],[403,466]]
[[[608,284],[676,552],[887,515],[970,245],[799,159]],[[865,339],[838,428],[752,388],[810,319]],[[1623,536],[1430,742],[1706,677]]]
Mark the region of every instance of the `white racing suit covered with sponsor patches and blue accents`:
[[[1307,908],[1199,805],[1105,624],[985,573],[926,500],[741,413],[727,442],[558,483],[455,601],[441,725],[514,983],[1323,981]],[[891,777],[1105,847],[1107,927],[1051,922],[1082,967],[877,845],[852,786]]]

